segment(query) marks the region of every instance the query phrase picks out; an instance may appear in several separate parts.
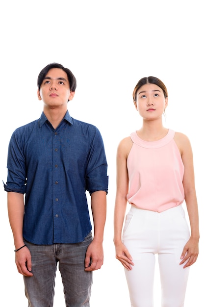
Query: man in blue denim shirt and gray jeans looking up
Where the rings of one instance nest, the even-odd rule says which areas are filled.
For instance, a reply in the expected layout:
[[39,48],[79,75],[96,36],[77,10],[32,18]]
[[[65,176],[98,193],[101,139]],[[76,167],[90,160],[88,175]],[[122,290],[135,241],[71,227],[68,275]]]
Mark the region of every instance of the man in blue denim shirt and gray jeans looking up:
[[69,69],[47,65],[38,76],[41,117],[17,128],[9,143],[4,189],[29,307],[53,306],[57,263],[66,306],[89,307],[92,271],[103,264],[107,162],[99,130],[67,110],[75,90]]

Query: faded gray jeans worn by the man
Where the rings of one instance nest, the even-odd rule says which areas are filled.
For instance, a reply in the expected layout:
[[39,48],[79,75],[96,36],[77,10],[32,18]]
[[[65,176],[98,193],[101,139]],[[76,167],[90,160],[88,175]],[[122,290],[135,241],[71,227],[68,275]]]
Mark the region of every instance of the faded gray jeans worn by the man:
[[84,260],[92,233],[81,243],[35,245],[25,241],[31,253],[32,277],[25,277],[28,307],[52,307],[57,263],[61,273],[66,307],[90,307],[92,272]]

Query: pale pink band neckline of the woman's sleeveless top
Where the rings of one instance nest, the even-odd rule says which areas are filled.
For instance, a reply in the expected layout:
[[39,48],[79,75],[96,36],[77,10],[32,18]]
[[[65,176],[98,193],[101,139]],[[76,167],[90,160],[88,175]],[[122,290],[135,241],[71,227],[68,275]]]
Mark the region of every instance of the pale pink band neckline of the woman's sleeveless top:
[[137,131],[134,131],[130,134],[130,137],[133,141],[133,143],[141,146],[141,147],[144,147],[144,148],[159,148],[159,147],[162,147],[166,144],[168,144],[173,138],[174,138],[174,135],[175,135],[175,131],[171,130],[171,129],[168,129],[168,132],[167,134],[157,140],[157,141],[144,141],[143,139],[141,139],[138,134],[137,134]]

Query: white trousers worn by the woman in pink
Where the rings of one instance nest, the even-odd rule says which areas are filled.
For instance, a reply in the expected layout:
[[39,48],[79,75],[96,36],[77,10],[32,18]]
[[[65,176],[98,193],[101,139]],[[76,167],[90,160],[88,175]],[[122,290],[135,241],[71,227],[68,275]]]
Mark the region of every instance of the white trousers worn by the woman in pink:
[[183,307],[189,267],[179,265],[184,245],[190,238],[181,205],[161,213],[131,206],[123,230],[123,242],[134,266],[125,269],[132,307],[154,306],[155,254],[161,280],[161,306]]

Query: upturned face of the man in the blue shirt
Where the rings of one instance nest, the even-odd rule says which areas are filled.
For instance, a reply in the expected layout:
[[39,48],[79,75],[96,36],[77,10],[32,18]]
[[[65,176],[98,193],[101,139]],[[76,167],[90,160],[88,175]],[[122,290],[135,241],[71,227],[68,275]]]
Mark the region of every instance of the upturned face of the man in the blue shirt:
[[51,68],[38,89],[38,99],[43,100],[48,108],[67,108],[67,102],[73,99],[74,94],[70,91],[67,74],[60,68]]

